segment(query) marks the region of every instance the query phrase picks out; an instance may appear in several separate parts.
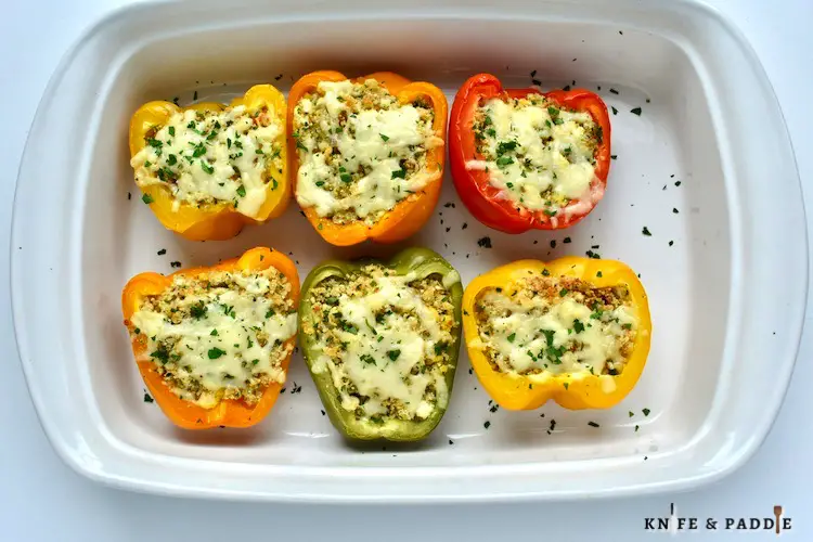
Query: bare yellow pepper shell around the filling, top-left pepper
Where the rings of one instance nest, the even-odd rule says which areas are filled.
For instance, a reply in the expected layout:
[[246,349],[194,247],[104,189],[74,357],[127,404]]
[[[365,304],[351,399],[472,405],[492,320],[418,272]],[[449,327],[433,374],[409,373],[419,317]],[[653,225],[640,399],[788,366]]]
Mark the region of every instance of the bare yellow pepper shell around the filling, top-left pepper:
[[[181,203],[180,208],[175,211],[172,206],[175,199],[167,186],[151,184],[140,188],[142,193],[152,198],[150,208],[160,223],[185,238],[191,241],[224,241],[235,236],[246,224],[259,224],[282,215],[291,202],[292,185],[288,180],[287,146],[285,115],[287,107],[285,96],[271,85],[257,85],[248,89],[241,98],[235,98],[230,106],[245,105],[248,111],[256,111],[263,105],[269,105],[275,113],[275,119],[280,122],[282,141],[280,147],[280,160],[282,172],[269,166],[268,173],[276,181],[269,182],[266,201],[260,206],[256,217],[247,217],[234,209],[230,202],[217,204],[205,204],[199,208],[196,205]],[[136,111],[130,120],[129,146],[130,157],[136,156],[145,145],[145,137],[150,130],[166,124],[169,118],[183,111],[221,112],[225,108],[223,104],[215,102],[203,102],[189,107],[179,107],[171,102],[154,101],[147,102]]]

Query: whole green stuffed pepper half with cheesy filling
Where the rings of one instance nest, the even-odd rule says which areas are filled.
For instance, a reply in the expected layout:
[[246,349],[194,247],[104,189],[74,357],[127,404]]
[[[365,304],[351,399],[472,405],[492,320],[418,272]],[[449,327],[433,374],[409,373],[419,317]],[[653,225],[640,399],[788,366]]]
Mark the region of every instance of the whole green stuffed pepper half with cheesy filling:
[[305,361],[333,425],[356,440],[420,440],[449,404],[461,336],[460,274],[438,254],[331,260],[302,285]]

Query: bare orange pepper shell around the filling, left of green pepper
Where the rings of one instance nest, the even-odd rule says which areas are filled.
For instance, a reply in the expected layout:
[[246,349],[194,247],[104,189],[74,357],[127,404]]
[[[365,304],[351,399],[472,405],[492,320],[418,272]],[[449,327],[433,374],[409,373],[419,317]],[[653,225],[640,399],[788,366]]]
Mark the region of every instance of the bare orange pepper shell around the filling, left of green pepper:
[[[146,350],[146,337],[143,334],[133,336],[134,326],[130,318],[139,310],[144,298],[151,295],[159,295],[171,286],[176,276],[201,276],[217,271],[262,271],[275,268],[282,272],[291,284],[289,298],[296,307],[299,301],[299,275],[294,262],[272,248],[257,247],[244,253],[240,258],[223,261],[214,267],[197,267],[177,271],[170,275],[146,272],[130,279],[121,292],[121,312],[125,325],[130,333],[132,352],[137,360]],[[287,374],[293,347],[296,344],[296,335],[285,341],[292,347],[292,353],[282,361],[282,370]],[[204,409],[192,401],[176,396],[164,378],[155,370],[155,363],[143,360],[137,361],[147,390],[152,393],[155,402],[164,414],[177,426],[184,429],[208,429],[211,427],[249,427],[259,423],[271,411],[282,384],[271,383],[262,391],[260,400],[249,405],[243,400],[224,399],[211,409]]]

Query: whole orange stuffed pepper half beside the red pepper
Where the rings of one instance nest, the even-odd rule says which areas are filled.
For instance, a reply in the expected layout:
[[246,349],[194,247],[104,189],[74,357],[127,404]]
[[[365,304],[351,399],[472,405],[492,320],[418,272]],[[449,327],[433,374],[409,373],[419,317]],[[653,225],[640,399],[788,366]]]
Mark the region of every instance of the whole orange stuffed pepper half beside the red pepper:
[[294,194],[325,241],[393,243],[417,232],[440,196],[447,101],[390,73],[314,72],[288,96]]

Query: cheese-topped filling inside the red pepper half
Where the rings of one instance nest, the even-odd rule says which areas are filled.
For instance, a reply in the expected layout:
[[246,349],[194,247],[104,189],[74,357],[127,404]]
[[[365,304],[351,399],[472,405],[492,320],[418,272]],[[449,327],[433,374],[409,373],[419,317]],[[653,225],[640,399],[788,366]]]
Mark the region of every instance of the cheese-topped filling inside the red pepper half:
[[595,175],[598,126],[590,114],[554,106],[542,96],[490,100],[477,113],[475,133],[489,182],[518,207],[555,216],[589,196]]

